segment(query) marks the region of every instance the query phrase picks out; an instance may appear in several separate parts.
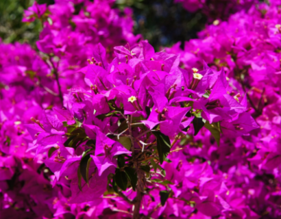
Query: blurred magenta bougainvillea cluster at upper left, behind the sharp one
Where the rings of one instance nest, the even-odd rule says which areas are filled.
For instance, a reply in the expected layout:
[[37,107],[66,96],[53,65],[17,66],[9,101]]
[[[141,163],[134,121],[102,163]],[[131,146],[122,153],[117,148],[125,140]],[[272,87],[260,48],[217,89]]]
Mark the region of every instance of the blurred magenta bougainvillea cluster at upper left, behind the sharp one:
[[112,60],[114,46],[134,44],[140,39],[132,34],[132,10],[113,9],[113,2],[56,1],[47,7],[35,1],[25,11],[23,22],[32,22],[35,18],[42,22],[43,29],[36,46],[47,64],[47,77],[53,83],[43,86],[59,96],[61,102],[62,92],[74,84],[85,84],[83,75],[77,70],[86,66],[97,43],[106,47],[107,58]]

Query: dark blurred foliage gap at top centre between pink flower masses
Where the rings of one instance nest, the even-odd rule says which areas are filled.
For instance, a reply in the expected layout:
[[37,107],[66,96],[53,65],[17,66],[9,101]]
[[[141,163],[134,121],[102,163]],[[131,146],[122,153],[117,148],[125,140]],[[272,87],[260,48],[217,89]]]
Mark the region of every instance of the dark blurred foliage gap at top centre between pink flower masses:
[[204,15],[187,12],[173,0],[117,0],[116,5],[134,10],[135,34],[142,34],[156,50],[197,38],[206,23]]

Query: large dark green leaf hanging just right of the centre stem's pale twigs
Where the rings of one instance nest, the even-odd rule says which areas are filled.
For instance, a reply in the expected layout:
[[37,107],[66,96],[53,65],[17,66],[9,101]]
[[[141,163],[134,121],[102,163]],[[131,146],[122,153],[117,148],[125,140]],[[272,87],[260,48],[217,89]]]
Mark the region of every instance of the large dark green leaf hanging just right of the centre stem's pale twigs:
[[171,150],[171,142],[168,136],[165,136],[160,131],[152,131],[157,139],[157,151],[160,159],[160,164],[163,163],[164,159],[167,157]]

